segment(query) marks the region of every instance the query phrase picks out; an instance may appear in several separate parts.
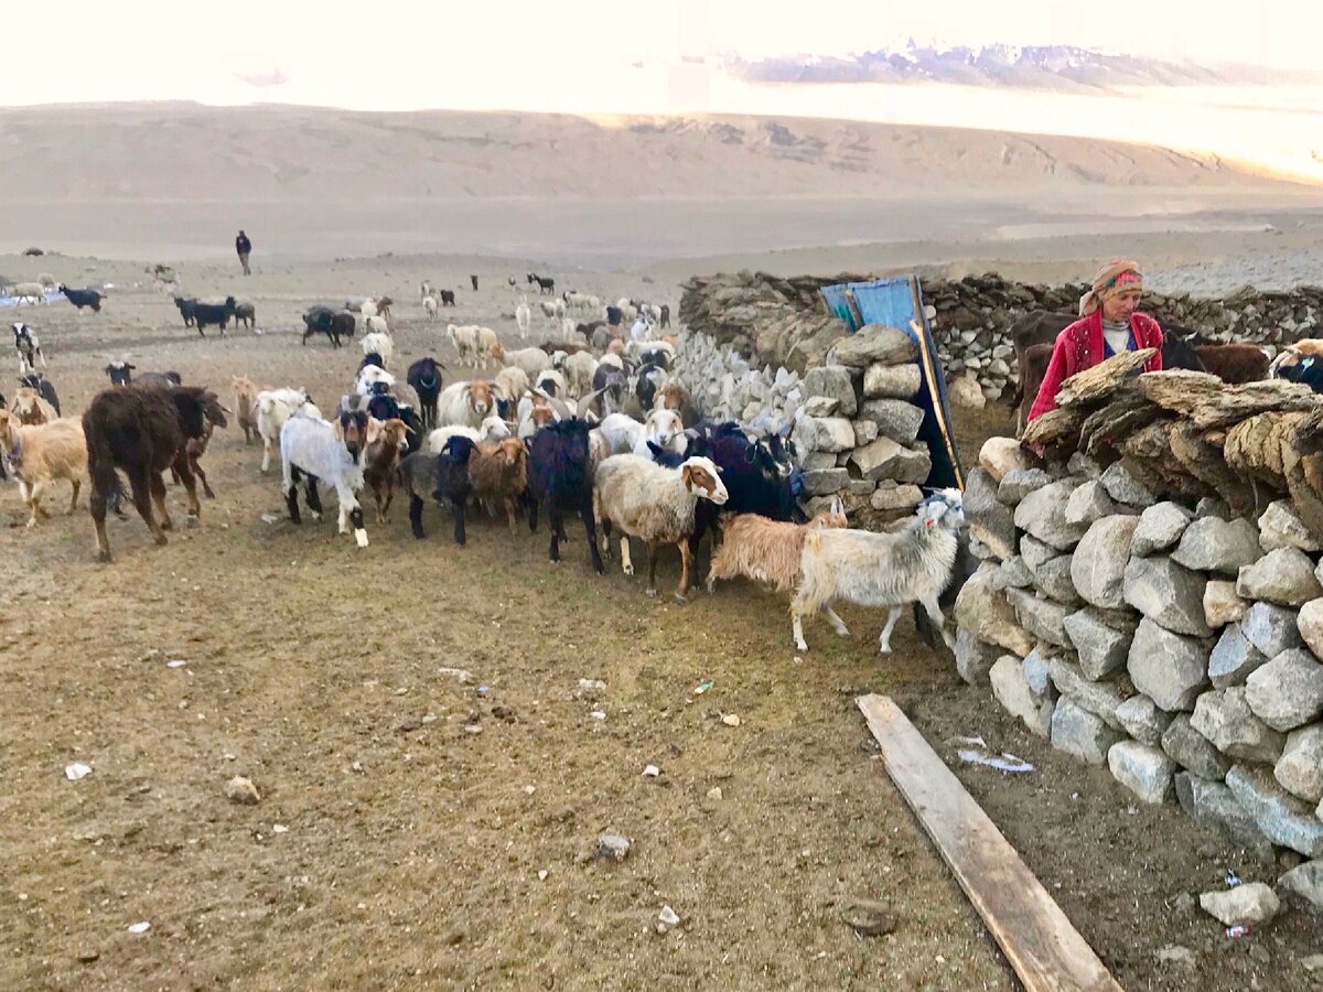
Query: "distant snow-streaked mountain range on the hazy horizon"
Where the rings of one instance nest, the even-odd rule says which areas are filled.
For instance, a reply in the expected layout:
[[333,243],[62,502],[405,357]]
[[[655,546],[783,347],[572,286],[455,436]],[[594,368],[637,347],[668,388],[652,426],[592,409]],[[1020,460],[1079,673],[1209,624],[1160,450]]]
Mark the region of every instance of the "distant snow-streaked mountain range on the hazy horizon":
[[[983,48],[877,49],[851,56],[777,56],[720,60],[722,69],[749,82],[901,83],[945,82],[1058,91],[1121,86],[1192,86],[1290,82],[1252,66],[1208,67],[1140,56],[1115,56],[1073,45],[987,45]],[[1312,77],[1302,77],[1312,78]]]

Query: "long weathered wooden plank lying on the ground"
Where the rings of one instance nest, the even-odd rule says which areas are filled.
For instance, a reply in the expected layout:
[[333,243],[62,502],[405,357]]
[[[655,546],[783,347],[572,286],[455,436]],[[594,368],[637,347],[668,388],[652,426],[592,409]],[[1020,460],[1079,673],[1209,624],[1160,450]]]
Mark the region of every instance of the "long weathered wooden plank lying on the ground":
[[856,701],[886,771],[1029,992],[1121,992],[983,808],[888,696]]

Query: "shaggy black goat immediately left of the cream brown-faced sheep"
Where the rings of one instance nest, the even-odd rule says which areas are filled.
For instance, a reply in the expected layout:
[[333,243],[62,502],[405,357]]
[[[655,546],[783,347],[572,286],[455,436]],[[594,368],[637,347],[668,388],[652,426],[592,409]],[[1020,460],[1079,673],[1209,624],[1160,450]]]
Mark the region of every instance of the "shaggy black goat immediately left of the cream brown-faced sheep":
[[589,426],[572,417],[537,431],[528,444],[528,491],[533,505],[528,529],[537,532],[537,508],[546,511],[552,530],[550,559],[561,559],[565,540],[565,513],[578,513],[587,532],[593,570],[602,574],[602,554],[597,549],[597,522],[593,518],[593,471],[589,458]]

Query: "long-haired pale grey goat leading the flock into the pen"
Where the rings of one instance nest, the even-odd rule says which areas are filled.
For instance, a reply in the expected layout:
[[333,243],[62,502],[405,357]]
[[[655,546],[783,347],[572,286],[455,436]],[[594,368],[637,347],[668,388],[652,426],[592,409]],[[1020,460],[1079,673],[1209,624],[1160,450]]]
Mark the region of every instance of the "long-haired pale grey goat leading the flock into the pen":
[[901,607],[919,603],[955,651],[955,639],[945,628],[938,597],[951,579],[957,533],[964,526],[959,489],[942,489],[926,500],[898,533],[871,530],[811,530],[804,536],[799,562],[799,586],[790,603],[795,647],[804,643],[803,616],[824,612],[841,638],[849,631],[832,611],[836,599],[857,606],[888,607],[886,626],[877,639],[878,652],[890,653],[892,628]]

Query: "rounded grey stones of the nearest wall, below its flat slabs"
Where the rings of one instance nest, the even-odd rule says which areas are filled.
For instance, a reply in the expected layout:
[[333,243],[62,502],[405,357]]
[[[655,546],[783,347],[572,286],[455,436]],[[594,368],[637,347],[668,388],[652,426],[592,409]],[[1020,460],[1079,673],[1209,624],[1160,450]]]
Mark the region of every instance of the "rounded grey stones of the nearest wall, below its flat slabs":
[[966,516],[957,665],[1035,734],[1179,803],[1323,907],[1323,566],[1289,500],[1159,500],[1125,462],[994,438]]

